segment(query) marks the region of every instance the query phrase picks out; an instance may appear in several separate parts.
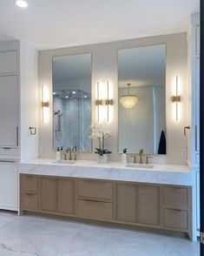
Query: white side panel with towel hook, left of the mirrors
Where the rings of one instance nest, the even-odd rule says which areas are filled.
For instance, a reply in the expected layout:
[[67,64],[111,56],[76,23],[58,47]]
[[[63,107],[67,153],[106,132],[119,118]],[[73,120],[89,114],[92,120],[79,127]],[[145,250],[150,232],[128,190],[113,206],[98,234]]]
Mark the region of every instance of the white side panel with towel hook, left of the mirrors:
[[[38,156],[38,72],[37,51],[20,44],[20,98],[21,98],[21,159]],[[30,135],[29,127],[36,127]]]

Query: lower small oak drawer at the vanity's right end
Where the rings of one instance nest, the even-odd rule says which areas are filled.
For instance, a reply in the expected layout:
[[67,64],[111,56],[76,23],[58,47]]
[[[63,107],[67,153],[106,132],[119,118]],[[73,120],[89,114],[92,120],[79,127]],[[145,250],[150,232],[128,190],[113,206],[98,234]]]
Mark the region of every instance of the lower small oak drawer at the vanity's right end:
[[174,229],[188,229],[188,212],[164,209],[163,210],[163,224],[165,227],[171,227]]

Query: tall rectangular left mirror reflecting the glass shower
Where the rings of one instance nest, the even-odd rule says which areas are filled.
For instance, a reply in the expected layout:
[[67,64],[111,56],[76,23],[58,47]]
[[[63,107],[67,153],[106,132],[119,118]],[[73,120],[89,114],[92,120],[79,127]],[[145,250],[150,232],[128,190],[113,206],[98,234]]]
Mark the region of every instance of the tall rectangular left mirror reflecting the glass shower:
[[91,54],[53,57],[53,147],[90,152]]

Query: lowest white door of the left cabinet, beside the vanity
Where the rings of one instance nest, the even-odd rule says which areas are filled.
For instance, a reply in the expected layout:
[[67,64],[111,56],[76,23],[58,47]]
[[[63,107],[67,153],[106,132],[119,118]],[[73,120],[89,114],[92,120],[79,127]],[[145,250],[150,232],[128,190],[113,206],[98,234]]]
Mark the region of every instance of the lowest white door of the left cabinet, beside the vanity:
[[18,210],[17,163],[0,160],[0,209]]

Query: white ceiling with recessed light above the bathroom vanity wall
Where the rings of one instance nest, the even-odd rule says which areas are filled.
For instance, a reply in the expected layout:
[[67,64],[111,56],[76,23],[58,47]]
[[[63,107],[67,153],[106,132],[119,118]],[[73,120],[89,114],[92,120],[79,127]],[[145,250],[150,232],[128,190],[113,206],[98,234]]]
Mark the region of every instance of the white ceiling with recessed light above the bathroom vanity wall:
[[0,0],[0,40],[38,50],[98,44],[188,30],[199,0]]

